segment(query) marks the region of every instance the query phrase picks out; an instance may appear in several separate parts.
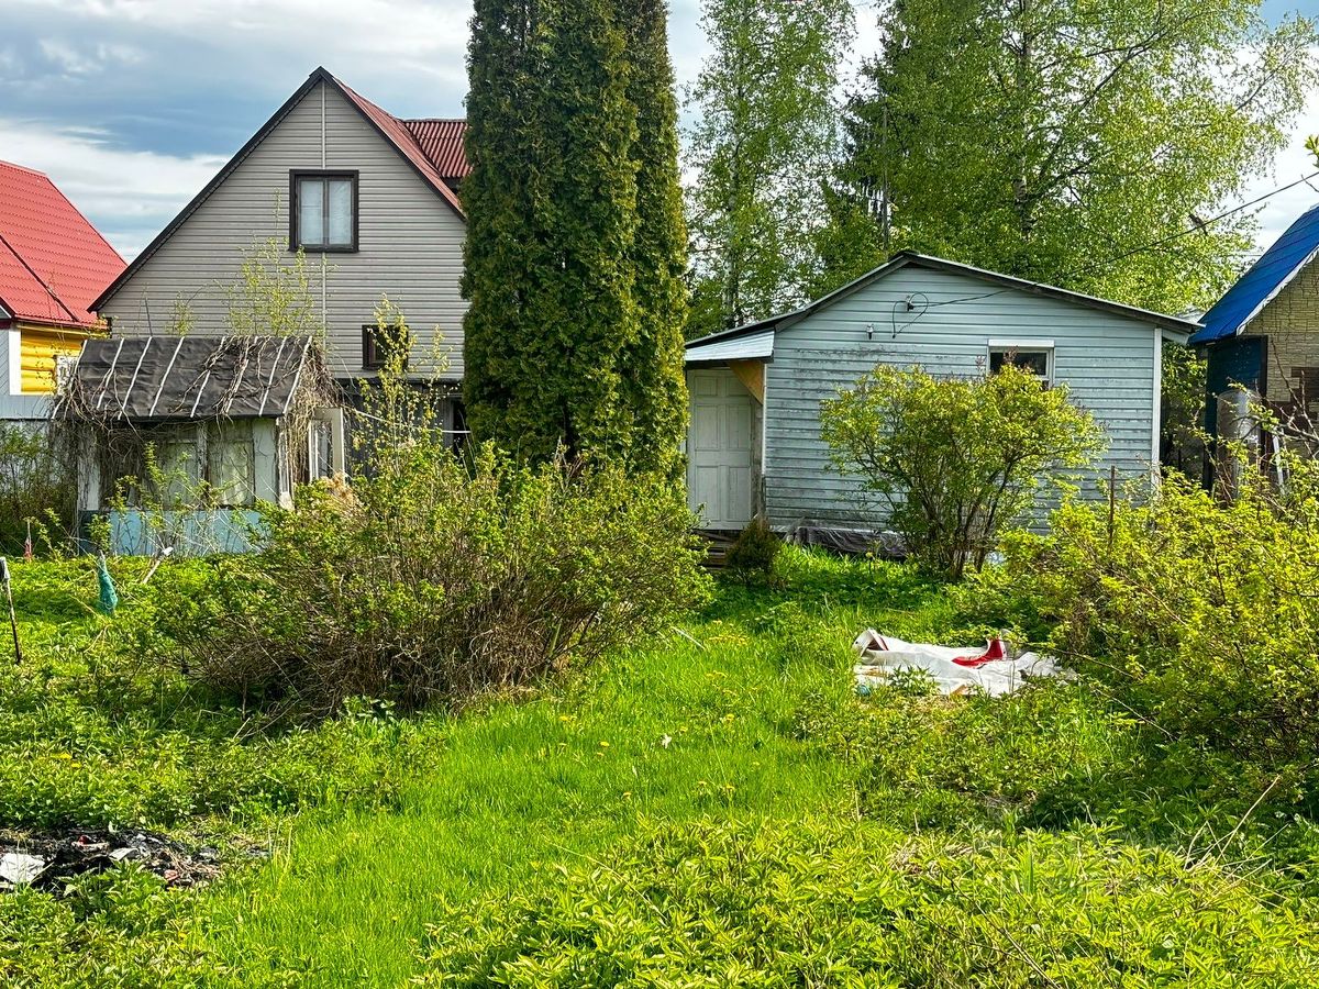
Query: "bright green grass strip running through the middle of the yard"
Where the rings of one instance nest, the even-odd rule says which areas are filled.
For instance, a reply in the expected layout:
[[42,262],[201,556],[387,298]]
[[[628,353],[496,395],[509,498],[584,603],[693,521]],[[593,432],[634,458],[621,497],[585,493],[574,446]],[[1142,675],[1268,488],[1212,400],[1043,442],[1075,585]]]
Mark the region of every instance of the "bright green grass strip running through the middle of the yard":
[[[227,890],[216,951],[251,977],[398,985],[446,903],[514,887],[538,864],[592,861],[638,823],[855,814],[849,767],[798,737],[803,699],[849,695],[857,622],[918,625],[938,592],[893,567],[793,563],[778,592],[724,588],[682,632],[454,719],[397,810],[314,815]],[[831,641],[802,650],[803,629]]]

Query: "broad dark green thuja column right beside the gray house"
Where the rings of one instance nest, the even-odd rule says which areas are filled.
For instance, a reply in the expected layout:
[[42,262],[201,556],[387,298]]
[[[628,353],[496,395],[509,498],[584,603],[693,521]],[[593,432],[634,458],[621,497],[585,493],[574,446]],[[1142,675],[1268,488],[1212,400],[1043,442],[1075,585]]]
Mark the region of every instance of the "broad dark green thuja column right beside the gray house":
[[637,111],[613,4],[477,0],[468,65],[468,422],[529,460],[628,462]]

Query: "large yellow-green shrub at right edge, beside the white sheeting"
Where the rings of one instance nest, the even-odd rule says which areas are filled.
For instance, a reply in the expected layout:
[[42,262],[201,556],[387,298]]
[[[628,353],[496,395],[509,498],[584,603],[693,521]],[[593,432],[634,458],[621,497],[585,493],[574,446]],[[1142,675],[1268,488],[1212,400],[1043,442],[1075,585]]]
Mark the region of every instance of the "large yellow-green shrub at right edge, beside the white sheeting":
[[1151,502],[1066,504],[969,607],[1064,654],[1165,732],[1266,766],[1319,757],[1319,465],[1228,505],[1179,475]]

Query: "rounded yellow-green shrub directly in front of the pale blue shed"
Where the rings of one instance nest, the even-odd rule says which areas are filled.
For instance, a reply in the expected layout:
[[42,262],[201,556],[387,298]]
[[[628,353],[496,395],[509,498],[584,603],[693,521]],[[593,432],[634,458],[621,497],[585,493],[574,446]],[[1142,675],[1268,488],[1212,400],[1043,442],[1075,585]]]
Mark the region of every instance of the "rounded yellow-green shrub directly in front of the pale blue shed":
[[1010,364],[972,378],[881,364],[824,401],[820,422],[834,465],[882,498],[922,566],[951,578],[979,570],[1034,506],[1041,483],[1100,446],[1093,418],[1066,388]]

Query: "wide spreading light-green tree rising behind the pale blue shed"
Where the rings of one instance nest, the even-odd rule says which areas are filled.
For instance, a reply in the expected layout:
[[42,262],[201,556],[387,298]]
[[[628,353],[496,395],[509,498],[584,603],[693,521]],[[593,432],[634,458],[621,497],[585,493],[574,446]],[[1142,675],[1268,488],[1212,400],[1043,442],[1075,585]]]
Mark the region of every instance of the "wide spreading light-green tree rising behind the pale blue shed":
[[1310,25],[1270,30],[1257,7],[893,0],[848,115],[830,268],[873,255],[886,190],[894,248],[1167,311],[1211,301],[1253,229],[1212,218],[1314,80]]

